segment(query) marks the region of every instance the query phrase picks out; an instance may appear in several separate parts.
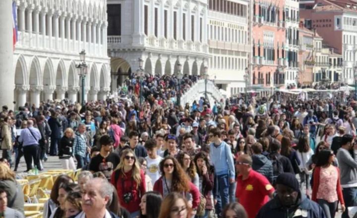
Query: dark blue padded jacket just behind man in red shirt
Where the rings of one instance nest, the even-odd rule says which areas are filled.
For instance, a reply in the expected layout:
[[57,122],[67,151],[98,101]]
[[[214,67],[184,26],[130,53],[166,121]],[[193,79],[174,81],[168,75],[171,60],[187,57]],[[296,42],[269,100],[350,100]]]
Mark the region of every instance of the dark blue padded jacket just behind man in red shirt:
[[264,175],[270,183],[273,182],[273,164],[272,162],[262,154],[252,156],[252,168]]

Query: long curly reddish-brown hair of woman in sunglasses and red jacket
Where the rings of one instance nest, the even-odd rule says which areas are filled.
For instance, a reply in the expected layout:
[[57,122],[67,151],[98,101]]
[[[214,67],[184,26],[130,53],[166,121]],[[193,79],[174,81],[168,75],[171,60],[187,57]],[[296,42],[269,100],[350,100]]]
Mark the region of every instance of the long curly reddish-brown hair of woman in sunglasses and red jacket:
[[174,163],[174,171],[173,171],[173,177],[172,177],[172,191],[175,191],[175,192],[190,191],[190,188],[189,188],[190,179],[188,178],[188,175],[183,171],[181,165],[175,158],[173,158],[171,156],[167,156],[160,162],[161,174],[163,176],[165,176],[164,163],[167,160],[172,160],[172,162]]

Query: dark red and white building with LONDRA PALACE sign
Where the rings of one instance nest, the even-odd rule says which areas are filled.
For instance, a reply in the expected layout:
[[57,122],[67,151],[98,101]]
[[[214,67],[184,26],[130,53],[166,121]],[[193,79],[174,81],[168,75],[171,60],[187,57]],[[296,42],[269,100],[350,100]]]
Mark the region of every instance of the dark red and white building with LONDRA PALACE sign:
[[335,54],[342,54],[344,61],[339,82],[354,83],[357,3],[352,0],[300,1],[300,15],[307,28],[316,29],[324,44],[333,48]]

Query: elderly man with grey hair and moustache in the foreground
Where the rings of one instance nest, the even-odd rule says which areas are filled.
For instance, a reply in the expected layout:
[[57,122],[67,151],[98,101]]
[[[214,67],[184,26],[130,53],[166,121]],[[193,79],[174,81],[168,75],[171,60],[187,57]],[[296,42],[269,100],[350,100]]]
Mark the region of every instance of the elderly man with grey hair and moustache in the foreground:
[[113,186],[103,178],[86,182],[82,193],[82,212],[75,218],[118,218],[106,206],[113,200]]

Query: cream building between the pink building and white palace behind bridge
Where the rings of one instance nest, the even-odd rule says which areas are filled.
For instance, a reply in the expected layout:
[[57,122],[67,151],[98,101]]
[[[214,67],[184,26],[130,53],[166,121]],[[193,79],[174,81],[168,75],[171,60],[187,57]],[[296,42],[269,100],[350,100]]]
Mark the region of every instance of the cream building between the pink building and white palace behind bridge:
[[248,0],[209,0],[208,74],[231,95],[245,89],[244,73],[251,58],[250,8]]

